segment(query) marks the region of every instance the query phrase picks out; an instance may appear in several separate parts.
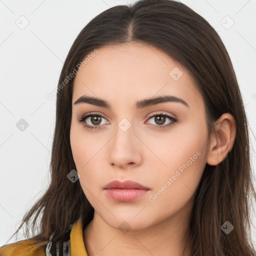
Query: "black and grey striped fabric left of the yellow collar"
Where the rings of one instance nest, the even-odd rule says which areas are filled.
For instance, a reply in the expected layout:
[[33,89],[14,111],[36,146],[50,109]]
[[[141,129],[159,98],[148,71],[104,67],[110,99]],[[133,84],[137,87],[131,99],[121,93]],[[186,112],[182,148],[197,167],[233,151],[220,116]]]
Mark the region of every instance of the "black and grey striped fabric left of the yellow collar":
[[[46,256],[70,256],[70,232],[72,224],[70,224],[66,233],[63,237],[63,242],[60,244],[60,241],[52,241],[53,234],[49,237],[49,242],[46,244],[45,255]],[[63,248],[63,252],[60,254],[60,246]]]

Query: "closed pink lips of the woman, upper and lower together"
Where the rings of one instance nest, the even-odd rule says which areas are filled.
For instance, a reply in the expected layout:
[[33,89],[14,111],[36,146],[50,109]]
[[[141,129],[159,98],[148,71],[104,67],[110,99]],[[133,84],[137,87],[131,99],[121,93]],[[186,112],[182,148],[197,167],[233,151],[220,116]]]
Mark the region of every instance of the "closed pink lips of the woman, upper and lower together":
[[143,186],[132,180],[113,180],[106,184],[104,191],[106,195],[114,201],[129,202],[148,193],[149,187]]

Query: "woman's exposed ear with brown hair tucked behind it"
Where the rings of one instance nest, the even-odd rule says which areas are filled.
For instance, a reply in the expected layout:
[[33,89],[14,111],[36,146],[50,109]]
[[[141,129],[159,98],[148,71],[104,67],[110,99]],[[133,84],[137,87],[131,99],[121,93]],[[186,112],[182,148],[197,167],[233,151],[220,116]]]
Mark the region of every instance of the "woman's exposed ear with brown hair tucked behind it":
[[236,122],[230,113],[223,113],[215,124],[216,135],[211,135],[207,163],[217,165],[231,151],[236,132]]

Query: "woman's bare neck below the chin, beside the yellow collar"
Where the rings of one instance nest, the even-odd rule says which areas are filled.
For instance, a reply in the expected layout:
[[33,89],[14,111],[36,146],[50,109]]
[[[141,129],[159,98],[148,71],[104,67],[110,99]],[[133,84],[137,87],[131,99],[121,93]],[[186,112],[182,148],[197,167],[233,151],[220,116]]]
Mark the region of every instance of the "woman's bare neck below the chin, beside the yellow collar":
[[[191,206],[191,205],[189,205]],[[161,255],[188,256],[191,244],[183,253],[183,235],[188,226],[188,205],[174,215],[138,230],[123,230],[108,225],[94,211],[91,222],[83,230],[88,256],[94,255]]]

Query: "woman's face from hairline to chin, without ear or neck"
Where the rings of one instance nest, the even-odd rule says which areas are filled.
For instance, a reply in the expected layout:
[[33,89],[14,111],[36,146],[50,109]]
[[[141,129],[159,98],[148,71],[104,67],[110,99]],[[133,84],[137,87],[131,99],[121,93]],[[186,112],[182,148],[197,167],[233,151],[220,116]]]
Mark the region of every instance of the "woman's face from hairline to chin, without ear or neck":
[[[81,96],[106,102],[77,103]],[[152,101],[162,96],[169,100]],[[84,194],[112,227],[126,221],[142,229],[188,209],[206,163],[207,137],[204,103],[191,75],[157,48],[103,46],[76,74],[72,155]],[[149,189],[116,199],[104,189],[112,180]]]

